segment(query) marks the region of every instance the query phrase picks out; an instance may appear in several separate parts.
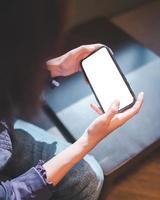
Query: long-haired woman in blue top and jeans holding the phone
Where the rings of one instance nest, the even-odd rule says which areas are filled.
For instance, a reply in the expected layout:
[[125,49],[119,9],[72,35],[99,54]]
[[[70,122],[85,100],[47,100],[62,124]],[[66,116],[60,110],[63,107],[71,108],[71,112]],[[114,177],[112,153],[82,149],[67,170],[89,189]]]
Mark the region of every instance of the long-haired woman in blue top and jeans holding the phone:
[[96,200],[103,174],[86,156],[104,137],[137,114],[143,103],[118,113],[115,101],[72,145],[14,130],[14,117],[32,112],[47,77],[80,70],[79,62],[101,46],[85,45],[54,59],[65,18],[61,0],[5,0],[0,4],[0,199]]

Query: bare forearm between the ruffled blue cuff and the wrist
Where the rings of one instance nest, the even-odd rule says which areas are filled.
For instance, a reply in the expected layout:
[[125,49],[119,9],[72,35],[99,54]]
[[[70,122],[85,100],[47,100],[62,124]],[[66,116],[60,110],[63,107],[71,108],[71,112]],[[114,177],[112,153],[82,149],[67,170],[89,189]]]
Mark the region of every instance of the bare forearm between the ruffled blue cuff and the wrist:
[[53,183],[53,185],[59,183],[67,172],[94,146],[95,143],[92,142],[91,138],[84,134],[74,144],[46,162],[43,167],[46,170],[48,181]]

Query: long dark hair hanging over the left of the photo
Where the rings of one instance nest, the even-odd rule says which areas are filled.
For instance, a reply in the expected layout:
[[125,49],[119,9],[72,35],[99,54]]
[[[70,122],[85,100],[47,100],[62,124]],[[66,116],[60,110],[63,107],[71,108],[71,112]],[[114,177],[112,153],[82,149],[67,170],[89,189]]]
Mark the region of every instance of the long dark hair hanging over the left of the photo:
[[[35,106],[45,62],[56,55],[66,1],[2,0],[0,3],[0,117]],[[26,109],[27,108],[27,109]]]

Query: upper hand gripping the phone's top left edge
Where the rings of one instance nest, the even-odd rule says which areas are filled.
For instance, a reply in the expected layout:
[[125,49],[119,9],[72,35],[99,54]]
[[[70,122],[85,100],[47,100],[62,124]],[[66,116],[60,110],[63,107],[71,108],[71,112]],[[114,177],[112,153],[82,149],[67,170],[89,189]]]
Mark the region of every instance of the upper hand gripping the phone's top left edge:
[[51,72],[51,76],[68,76],[80,71],[80,61],[101,46],[103,45],[83,45],[69,51],[68,53],[58,58],[49,60],[47,62],[47,67],[48,70]]

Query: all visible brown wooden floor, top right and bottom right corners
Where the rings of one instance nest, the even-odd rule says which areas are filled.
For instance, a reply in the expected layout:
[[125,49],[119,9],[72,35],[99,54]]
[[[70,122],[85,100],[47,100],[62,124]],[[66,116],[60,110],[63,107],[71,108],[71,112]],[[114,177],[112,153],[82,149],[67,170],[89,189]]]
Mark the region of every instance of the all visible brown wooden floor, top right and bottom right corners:
[[[149,14],[148,14],[149,13]],[[160,1],[152,1],[139,8],[116,16],[116,25],[160,55]],[[114,186],[104,183],[100,200],[159,200],[160,148],[138,164]]]

